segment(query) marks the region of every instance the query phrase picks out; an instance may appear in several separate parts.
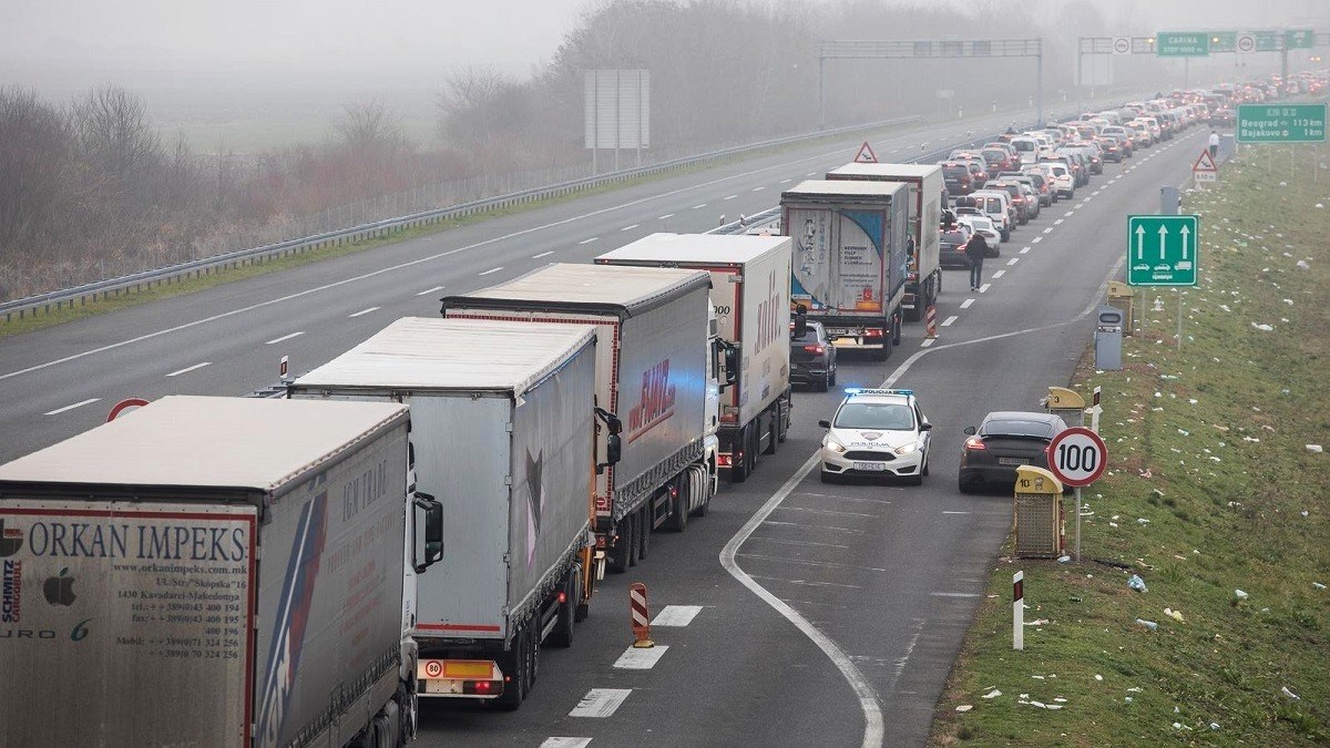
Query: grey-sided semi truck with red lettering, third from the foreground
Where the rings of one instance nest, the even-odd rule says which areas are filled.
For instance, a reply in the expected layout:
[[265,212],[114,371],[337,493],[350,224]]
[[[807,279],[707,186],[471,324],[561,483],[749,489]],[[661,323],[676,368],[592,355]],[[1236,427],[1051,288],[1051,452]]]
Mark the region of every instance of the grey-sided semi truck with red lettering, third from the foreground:
[[700,270],[552,264],[442,299],[451,319],[596,326],[596,405],[622,422],[621,459],[596,476],[597,578],[645,559],[654,530],[681,531],[708,511],[718,403],[709,293]]

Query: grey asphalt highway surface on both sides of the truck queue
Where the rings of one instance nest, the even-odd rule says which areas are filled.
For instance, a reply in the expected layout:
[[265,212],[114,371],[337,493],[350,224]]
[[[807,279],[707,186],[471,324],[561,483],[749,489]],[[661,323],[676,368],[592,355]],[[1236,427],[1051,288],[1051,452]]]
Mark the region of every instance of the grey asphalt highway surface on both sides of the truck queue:
[[[1124,216],[1157,210],[1158,186],[1184,180],[1201,132],[1142,150],[1125,168],[1108,165],[1076,200],[1045,209],[986,264],[980,293],[963,293],[966,273],[947,272],[940,339],[926,343],[922,326],[910,325],[886,363],[842,357],[843,386],[886,381],[919,394],[935,425],[922,487],[809,478],[817,419],[839,397],[799,393],[781,454],[724,490],[688,532],[656,535],[644,564],[606,579],[573,648],[541,652],[520,711],[427,703],[420,744],[920,744],[1009,524],[1009,498],[958,492],[962,429],[988,410],[1037,409],[1048,385],[1067,382],[1089,341],[1088,313],[1125,254]],[[920,141],[940,146],[946,134],[875,138],[874,146],[891,160],[914,156]],[[585,261],[650,232],[705,230],[721,213],[755,213],[775,204],[782,184],[847,161],[858,140],[0,341],[8,437],[0,459],[98,423],[124,397],[243,394],[271,382],[283,354],[307,370],[391,319],[438,314],[443,287],[466,291],[543,262]],[[629,582],[648,584],[653,612],[680,606],[670,615],[688,619],[657,626],[657,648],[645,655],[657,659],[637,669],[616,667],[632,640]]]

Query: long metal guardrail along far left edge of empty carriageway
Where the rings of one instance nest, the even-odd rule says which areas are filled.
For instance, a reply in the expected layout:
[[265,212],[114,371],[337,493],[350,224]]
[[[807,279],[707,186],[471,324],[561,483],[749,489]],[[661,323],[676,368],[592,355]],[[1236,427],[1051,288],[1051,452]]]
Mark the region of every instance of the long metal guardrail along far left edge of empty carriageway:
[[380,238],[394,232],[414,229],[428,224],[438,224],[440,221],[464,218],[467,216],[487,213],[489,210],[499,210],[515,205],[548,200],[552,197],[561,197],[575,192],[597,189],[601,186],[613,185],[634,180],[638,177],[648,177],[689,166],[710,164],[714,161],[733,158],[734,156],[769,150],[785,145],[795,145],[823,137],[835,137],[853,132],[872,130],[884,126],[915,124],[922,121],[924,121],[924,117],[915,114],[910,117],[896,117],[892,120],[882,120],[878,122],[870,122],[863,125],[850,125],[845,128],[834,128],[814,133],[778,137],[778,138],[765,140],[761,142],[751,142],[746,145],[725,148],[721,150],[713,150],[697,156],[685,156],[681,158],[673,158],[669,161],[662,161],[660,164],[652,164],[649,166],[621,169],[618,172],[585,177],[581,180],[572,180],[555,185],[512,192],[508,194],[500,194],[497,197],[473,200],[469,202],[450,205],[435,210],[424,210],[410,216],[388,218],[384,221],[375,221],[371,224],[362,224],[359,226],[351,226],[335,232],[326,232],[310,237],[287,240],[283,242],[269,244],[251,249],[241,249],[225,254],[215,254],[211,257],[192,260],[189,262],[169,265],[166,268],[158,268],[156,270],[145,270],[141,273],[133,273],[130,276],[108,278],[105,281],[97,281],[94,283],[85,283],[70,289],[8,301],[0,303],[0,313],[5,315],[7,322],[12,321],[15,315],[23,319],[27,314],[35,315],[39,311],[51,313],[52,310],[63,309],[65,305],[73,309],[76,303],[85,305],[88,303],[89,299],[97,301],[98,298],[106,299],[112,297],[118,297],[122,293],[128,294],[137,290],[142,290],[145,286],[152,287],[152,286],[169,285],[173,281],[180,282],[188,278],[209,276],[213,272],[219,272],[227,268],[239,268],[243,265],[261,265],[270,260],[291,254],[299,254],[303,252],[309,252],[311,249],[322,249],[343,244],[354,244],[370,238]]

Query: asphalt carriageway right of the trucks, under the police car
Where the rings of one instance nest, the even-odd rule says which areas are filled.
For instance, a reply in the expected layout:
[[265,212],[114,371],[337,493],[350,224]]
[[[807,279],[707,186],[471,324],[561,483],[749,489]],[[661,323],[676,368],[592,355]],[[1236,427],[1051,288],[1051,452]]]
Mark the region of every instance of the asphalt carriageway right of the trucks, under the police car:
[[[936,425],[924,486],[822,484],[805,475],[822,435],[815,422],[841,394],[799,393],[779,459],[722,492],[686,534],[656,536],[645,566],[606,579],[573,650],[544,651],[541,681],[521,711],[428,704],[422,744],[855,745],[866,732],[871,744],[922,744],[1011,522],[1009,496],[956,490],[962,429],[988,410],[1037,410],[1048,385],[1067,382],[1093,329],[1088,311],[1125,254],[1124,216],[1154,212],[1157,188],[1182,181],[1204,140],[1198,132],[1108,166],[1076,200],[1020,228],[1003,257],[986,264],[986,291],[944,294],[939,318],[956,321],[939,341],[924,346],[922,330],[908,326],[884,365],[842,358],[842,385],[886,379],[919,393]],[[948,272],[946,285],[963,289],[963,276]],[[866,731],[837,663],[717,563],[726,543],[734,572],[829,638],[841,664],[870,688],[880,733]],[[614,663],[630,642],[626,584],[638,580],[656,610],[701,611],[684,628],[653,631],[669,647],[658,664],[625,671]],[[593,689],[628,693],[608,716],[571,716]]]

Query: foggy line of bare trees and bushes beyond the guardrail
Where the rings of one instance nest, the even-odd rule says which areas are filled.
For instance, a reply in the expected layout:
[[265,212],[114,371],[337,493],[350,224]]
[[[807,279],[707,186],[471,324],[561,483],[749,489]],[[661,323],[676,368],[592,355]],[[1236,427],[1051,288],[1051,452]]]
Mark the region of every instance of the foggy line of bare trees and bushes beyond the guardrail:
[[[4,88],[0,299],[215,254],[273,226],[290,233],[295,218],[422,185],[588,162],[583,77],[598,68],[650,71],[652,149],[664,153],[815,128],[822,39],[1031,39],[1056,28],[1064,48],[1045,47],[1045,91],[1071,88],[1072,72],[1049,63],[1072,57],[1076,29],[1088,33],[1103,19],[1084,0],[1039,7],[1049,5],[1049,17],[1035,19],[1013,0],[966,11],[872,0],[605,1],[529,80],[485,67],[448,75],[436,98],[439,141],[428,145],[367,101],[344,108],[327,142],[202,158],[165,138],[122,88],[70,102]],[[827,124],[955,116],[956,106],[1011,104],[1033,89],[1033,61],[1024,59],[834,60]]]

